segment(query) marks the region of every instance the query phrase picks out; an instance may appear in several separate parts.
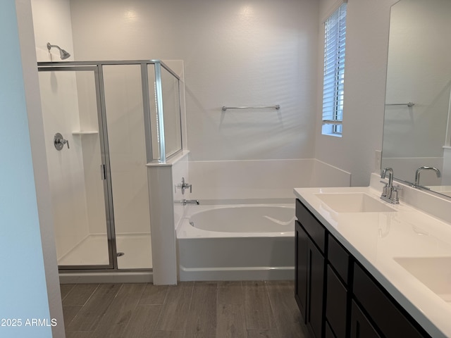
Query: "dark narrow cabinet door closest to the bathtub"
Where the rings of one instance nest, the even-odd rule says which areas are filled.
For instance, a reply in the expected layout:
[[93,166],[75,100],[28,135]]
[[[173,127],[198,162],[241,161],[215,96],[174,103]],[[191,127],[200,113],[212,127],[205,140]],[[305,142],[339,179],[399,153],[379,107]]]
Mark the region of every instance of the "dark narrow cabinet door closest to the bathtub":
[[307,315],[307,233],[295,222],[295,299],[304,323]]

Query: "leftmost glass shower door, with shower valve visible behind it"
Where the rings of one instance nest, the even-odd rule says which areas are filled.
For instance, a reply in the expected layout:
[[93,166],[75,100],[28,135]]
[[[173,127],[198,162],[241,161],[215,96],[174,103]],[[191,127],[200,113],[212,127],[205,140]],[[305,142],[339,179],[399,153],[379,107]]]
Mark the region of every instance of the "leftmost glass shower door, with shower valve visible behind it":
[[111,181],[97,67],[38,69],[58,266],[113,268]]

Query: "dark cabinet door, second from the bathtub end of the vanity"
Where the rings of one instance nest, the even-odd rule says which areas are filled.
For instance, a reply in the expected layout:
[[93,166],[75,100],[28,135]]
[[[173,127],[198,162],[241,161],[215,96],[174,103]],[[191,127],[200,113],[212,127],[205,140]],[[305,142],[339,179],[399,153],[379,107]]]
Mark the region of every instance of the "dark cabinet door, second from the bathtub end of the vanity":
[[321,251],[308,240],[307,244],[307,327],[314,337],[323,337],[323,299],[325,259]]

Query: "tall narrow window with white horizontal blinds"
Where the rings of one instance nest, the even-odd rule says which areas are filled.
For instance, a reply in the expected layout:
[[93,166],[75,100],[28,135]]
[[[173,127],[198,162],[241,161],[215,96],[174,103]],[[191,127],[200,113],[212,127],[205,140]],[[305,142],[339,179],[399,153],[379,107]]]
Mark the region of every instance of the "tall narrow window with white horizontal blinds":
[[346,3],[325,22],[323,130],[326,135],[341,137],[345,84]]

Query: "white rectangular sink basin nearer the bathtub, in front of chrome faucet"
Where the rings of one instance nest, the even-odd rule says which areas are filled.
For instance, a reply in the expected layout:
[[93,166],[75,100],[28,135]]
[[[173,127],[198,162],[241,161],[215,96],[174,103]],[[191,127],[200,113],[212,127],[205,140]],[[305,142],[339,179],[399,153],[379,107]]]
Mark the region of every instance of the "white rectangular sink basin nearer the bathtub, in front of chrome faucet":
[[374,199],[363,192],[315,194],[337,213],[381,213],[395,211],[385,202]]

